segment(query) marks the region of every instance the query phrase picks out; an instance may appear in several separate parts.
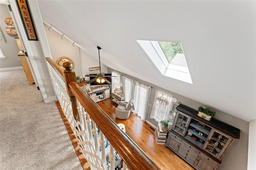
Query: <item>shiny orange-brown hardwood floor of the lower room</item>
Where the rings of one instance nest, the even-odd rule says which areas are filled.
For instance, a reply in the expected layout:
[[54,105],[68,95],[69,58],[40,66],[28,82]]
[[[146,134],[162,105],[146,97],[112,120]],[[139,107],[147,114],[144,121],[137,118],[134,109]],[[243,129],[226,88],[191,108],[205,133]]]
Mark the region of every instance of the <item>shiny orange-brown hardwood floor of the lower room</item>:
[[179,156],[174,154],[169,148],[163,144],[156,144],[154,130],[150,125],[140,120],[140,117],[130,114],[125,120],[116,119],[115,108],[117,104],[111,99],[106,99],[97,103],[108,116],[118,123],[123,123],[126,128],[127,135],[162,169],[162,170],[194,170],[192,166],[187,164]]

